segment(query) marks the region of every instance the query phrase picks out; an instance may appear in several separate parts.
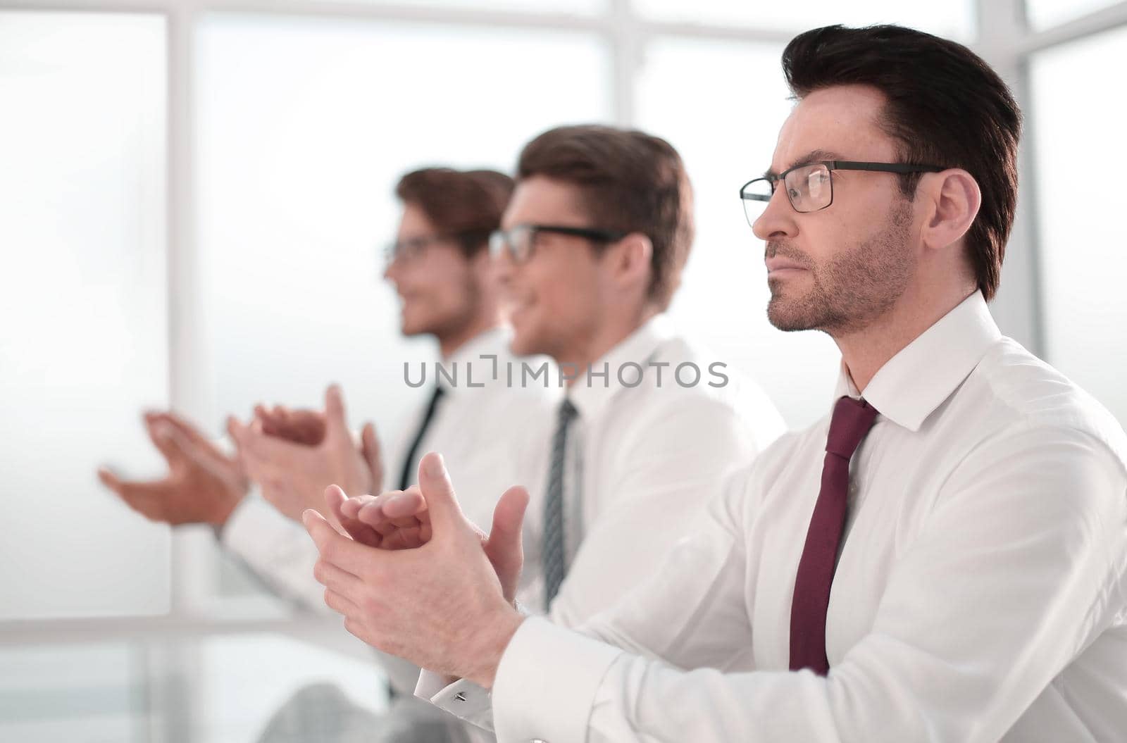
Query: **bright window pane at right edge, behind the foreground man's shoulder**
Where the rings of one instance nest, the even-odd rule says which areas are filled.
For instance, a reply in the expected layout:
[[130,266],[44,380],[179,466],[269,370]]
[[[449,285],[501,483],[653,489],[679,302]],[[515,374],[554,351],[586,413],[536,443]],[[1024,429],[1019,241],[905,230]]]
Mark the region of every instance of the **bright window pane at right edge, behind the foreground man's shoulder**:
[[1027,112],[1036,157],[1046,356],[1127,425],[1127,184],[1119,140],[1127,29],[1033,56]]

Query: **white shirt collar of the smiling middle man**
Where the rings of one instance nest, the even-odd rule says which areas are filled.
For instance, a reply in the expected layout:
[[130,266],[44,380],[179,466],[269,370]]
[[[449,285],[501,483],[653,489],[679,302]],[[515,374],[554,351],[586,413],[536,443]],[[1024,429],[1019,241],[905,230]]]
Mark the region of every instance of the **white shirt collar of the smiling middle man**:
[[[620,390],[629,388],[619,380],[619,370],[623,364],[638,364],[641,366],[641,373],[647,375],[653,373],[646,368],[646,363],[657,348],[674,335],[676,330],[673,321],[664,313],[655,315],[591,365],[591,371],[598,374],[597,377],[588,377],[587,370],[580,371],[575,384],[567,390],[567,397],[580,417],[593,419],[611,398]],[[602,377],[604,371],[605,379]],[[623,378],[632,382],[637,374],[636,369],[628,369],[623,372]]]

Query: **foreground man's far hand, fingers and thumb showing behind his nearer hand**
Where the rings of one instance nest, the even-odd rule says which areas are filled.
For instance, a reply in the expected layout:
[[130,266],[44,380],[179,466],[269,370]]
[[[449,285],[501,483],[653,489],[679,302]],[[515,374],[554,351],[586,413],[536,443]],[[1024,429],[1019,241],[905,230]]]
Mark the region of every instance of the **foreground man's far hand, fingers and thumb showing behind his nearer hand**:
[[[419,478],[421,479],[421,470]],[[414,549],[431,541],[433,529],[426,498],[418,485],[406,490],[391,490],[379,496],[360,495],[346,498],[336,485],[325,492],[329,511],[356,541],[379,549]],[[487,537],[476,524],[467,523],[481,540],[481,547],[494,566],[505,600],[516,600],[516,586],[524,564],[521,528],[526,503],[518,498],[502,498],[494,510],[492,528]]]

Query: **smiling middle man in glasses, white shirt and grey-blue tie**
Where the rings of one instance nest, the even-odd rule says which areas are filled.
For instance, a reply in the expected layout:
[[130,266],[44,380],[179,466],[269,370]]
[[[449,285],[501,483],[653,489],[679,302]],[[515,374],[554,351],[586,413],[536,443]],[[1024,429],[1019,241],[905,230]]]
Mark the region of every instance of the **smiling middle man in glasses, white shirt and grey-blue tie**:
[[[699,494],[783,432],[765,395],[666,316],[693,240],[692,187],[664,140],[564,126],[530,142],[490,250],[513,352],[567,380],[530,481],[526,600],[567,626],[656,568]],[[631,533],[623,541],[623,533]],[[532,603],[535,602],[535,603]]]

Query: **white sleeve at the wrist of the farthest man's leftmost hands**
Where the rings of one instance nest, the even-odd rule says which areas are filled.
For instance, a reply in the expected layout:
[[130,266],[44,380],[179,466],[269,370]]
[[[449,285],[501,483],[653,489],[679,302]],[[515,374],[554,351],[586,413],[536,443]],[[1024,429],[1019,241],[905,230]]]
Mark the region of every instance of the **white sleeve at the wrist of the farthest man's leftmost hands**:
[[313,577],[313,540],[257,493],[242,498],[219,538],[277,595],[321,614],[334,613],[325,605],[325,586]]

